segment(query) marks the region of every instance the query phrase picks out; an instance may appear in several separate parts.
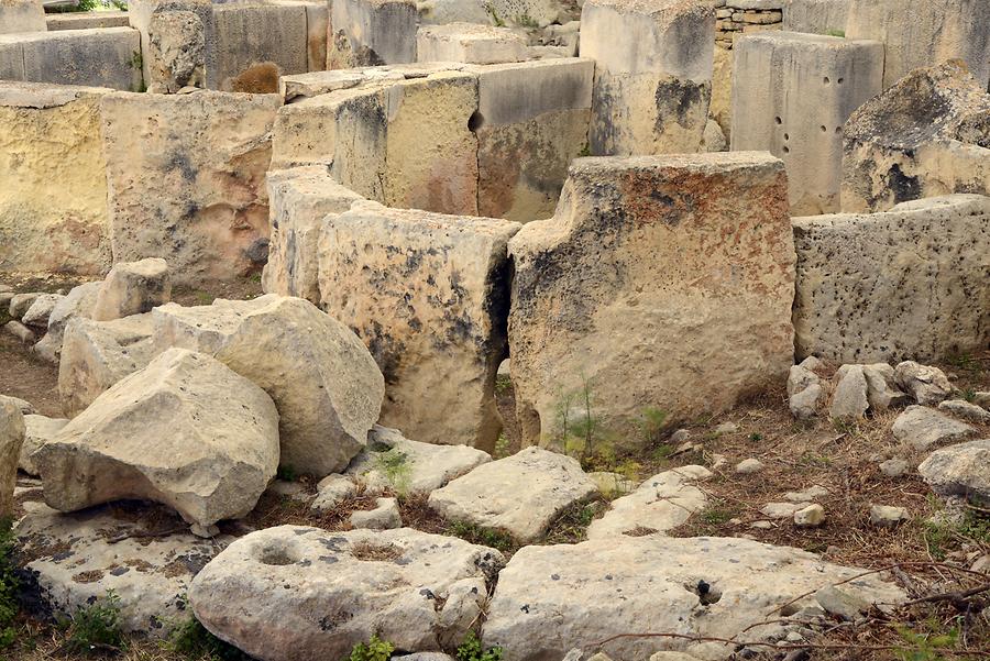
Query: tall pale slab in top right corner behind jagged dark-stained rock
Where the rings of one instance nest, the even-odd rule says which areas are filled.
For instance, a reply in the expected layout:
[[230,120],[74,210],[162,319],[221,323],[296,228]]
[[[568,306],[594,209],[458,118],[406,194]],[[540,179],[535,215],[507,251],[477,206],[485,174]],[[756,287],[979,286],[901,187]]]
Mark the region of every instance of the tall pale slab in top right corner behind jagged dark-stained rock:
[[847,38],[886,45],[883,87],[912,69],[959,58],[990,84],[990,4],[983,0],[849,0]]

